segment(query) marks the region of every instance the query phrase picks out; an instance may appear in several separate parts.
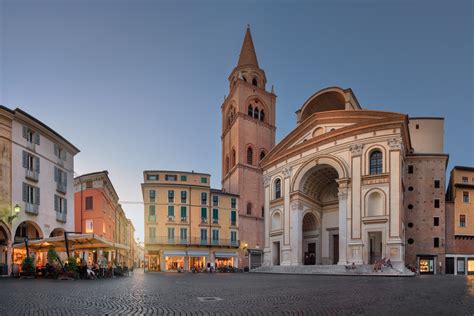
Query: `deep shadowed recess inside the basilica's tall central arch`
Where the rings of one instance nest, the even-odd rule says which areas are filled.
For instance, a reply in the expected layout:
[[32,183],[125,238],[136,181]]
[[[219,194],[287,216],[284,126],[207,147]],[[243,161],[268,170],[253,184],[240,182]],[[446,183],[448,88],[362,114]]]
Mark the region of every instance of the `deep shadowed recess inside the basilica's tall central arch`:
[[[328,164],[314,166],[302,178],[300,190],[318,215],[308,213],[302,219],[304,264],[337,264],[339,260],[338,178],[337,170]],[[314,263],[308,259],[313,252]]]

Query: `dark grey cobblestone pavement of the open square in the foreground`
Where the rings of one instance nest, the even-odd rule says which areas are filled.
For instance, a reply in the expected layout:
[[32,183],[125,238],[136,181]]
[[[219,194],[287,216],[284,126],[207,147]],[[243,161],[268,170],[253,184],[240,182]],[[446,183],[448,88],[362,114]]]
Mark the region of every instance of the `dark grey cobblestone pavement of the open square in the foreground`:
[[0,315],[65,314],[474,315],[474,276],[136,271],[95,281],[0,279]]

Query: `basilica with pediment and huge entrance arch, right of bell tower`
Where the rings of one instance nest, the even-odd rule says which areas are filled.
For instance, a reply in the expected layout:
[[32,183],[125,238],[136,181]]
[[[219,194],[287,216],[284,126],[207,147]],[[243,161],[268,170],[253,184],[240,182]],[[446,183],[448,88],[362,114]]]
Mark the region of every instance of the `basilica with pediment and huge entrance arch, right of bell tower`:
[[[430,219],[442,213],[444,121],[366,110],[351,89],[339,87],[316,92],[296,114],[296,128],[261,162],[264,264],[370,264],[385,258],[402,266],[407,255],[419,260],[410,252],[430,253],[429,230],[416,238],[415,248],[407,242],[416,234],[407,221],[424,210]],[[417,167],[414,175],[412,161],[430,168]],[[421,179],[417,195],[407,190],[411,178]],[[440,182],[436,193],[433,185]],[[419,205],[420,195],[425,205]]]

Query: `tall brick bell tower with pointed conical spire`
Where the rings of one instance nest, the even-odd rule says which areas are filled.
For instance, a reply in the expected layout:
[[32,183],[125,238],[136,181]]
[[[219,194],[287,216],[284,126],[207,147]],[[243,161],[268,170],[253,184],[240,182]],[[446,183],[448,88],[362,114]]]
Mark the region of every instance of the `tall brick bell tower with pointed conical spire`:
[[229,96],[221,106],[222,188],[240,196],[239,267],[249,266],[249,257],[254,266],[265,245],[260,161],[275,146],[276,130],[276,95],[273,88],[266,90],[266,83],[247,26],[239,61],[229,76]]

